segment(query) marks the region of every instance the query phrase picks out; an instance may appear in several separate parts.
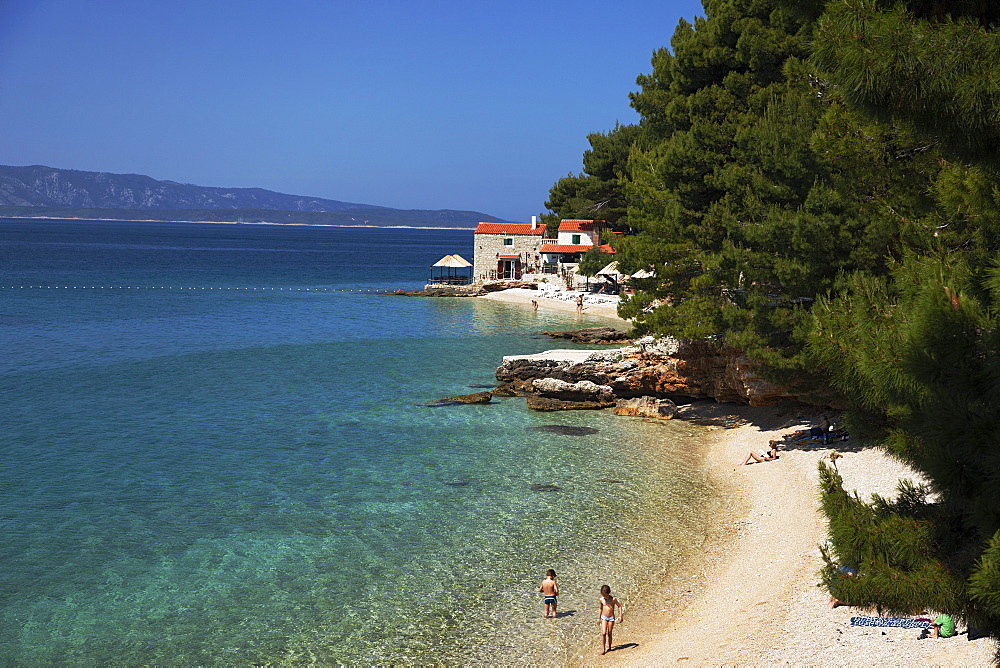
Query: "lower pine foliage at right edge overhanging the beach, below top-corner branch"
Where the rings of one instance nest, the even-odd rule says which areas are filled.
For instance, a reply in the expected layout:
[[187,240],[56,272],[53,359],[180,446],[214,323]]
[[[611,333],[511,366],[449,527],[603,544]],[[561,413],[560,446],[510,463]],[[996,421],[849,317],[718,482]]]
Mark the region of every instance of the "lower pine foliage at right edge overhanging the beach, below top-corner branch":
[[1000,572],[1000,271],[971,265],[977,254],[909,255],[886,276],[849,277],[813,309],[809,349],[851,397],[851,430],[940,497],[864,504],[825,474],[837,556],[872,574],[852,595],[894,612],[933,607],[1000,634],[988,589]]

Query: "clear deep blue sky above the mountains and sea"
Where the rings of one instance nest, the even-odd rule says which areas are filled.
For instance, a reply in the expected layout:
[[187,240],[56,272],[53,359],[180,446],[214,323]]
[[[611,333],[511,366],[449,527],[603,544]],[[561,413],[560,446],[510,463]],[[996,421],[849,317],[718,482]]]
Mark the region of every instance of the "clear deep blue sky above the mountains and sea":
[[0,164],[540,213],[693,0],[0,0]]

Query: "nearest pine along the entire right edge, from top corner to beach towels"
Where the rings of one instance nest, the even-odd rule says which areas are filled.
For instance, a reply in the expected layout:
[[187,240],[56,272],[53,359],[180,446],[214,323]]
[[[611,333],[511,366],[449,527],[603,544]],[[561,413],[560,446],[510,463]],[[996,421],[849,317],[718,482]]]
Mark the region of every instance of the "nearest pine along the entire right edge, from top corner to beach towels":
[[[942,156],[886,271],[813,308],[809,351],[851,398],[852,433],[928,481],[897,501],[844,493],[821,466],[825,578],[851,603],[933,608],[1000,637],[1000,131],[997,10],[982,2],[834,0],[815,62],[861,113]],[[944,158],[947,158],[944,159]],[[854,180],[854,179],[852,179]],[[919,213],[919,212],[913,212]],[[856,566],[847,582],[835,566]],[[842,592],[842,593],[841,593]]]

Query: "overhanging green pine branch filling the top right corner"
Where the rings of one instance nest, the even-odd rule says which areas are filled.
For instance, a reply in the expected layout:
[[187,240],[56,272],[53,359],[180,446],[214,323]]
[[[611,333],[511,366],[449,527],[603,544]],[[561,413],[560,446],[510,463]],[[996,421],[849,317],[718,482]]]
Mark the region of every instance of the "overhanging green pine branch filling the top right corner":
[[833,0],[815,62],[852,106],[939,138],[951,156],[994,162],[1000,12],[991,4]]

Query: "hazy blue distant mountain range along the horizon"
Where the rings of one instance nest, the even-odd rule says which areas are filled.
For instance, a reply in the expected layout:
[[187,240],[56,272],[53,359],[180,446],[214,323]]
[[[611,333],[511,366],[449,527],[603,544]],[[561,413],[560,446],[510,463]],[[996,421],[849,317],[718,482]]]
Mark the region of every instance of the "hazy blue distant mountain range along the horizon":
[[475,227],[478,211],[392,209],[263,188],[213,188],[33,165],[0,165],[0,216]]

